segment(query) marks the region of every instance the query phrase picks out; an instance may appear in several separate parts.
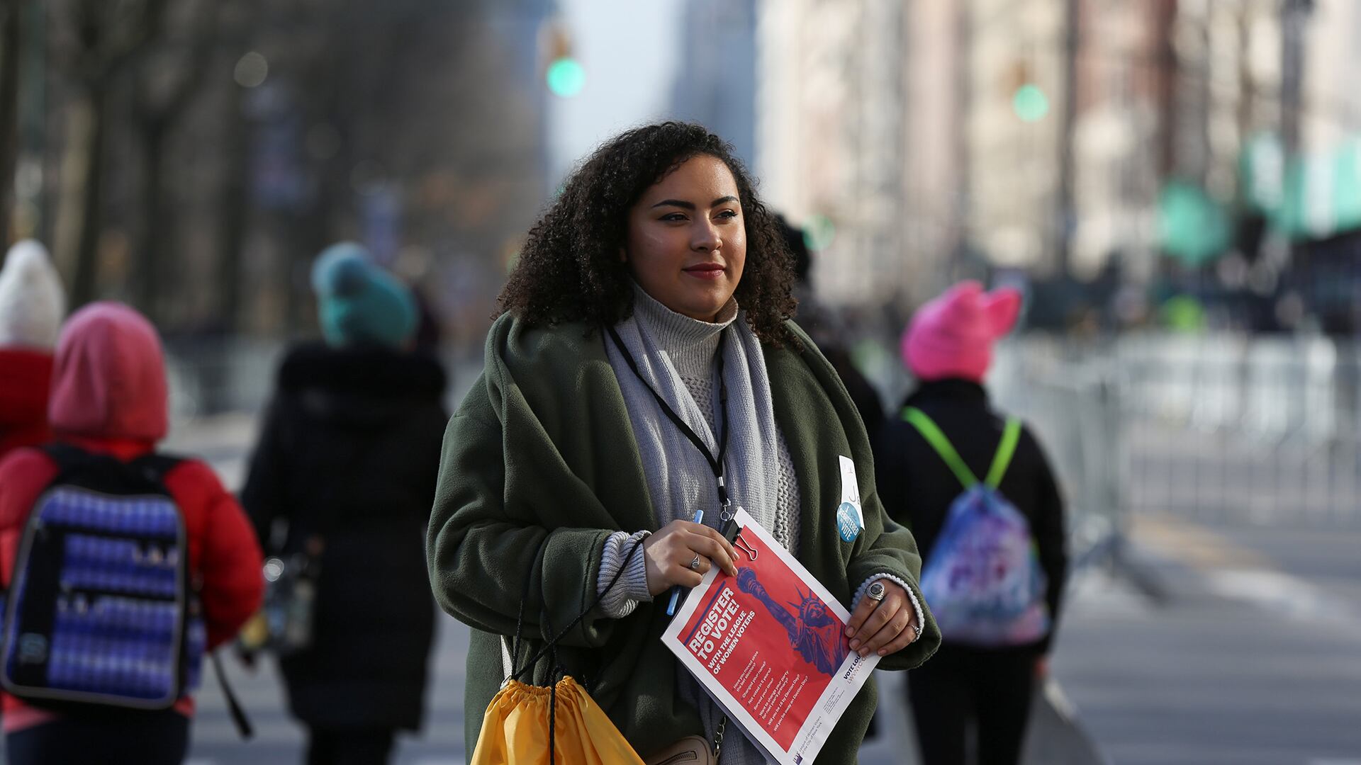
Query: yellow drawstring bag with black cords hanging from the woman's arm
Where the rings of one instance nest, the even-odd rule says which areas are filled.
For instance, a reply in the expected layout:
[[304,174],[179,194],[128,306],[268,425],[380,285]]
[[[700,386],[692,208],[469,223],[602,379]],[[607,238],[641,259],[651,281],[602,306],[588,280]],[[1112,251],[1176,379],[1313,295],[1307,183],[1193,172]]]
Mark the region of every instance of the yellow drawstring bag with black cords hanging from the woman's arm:
[[[577,615],[562,632],[550,637],[543,648],[529,656],[519,670],[521,634],[524,632],[524,603],[529,599],[529,581],[535,569],[542,566],[543,546],[525,580],[524,596],[520,598],[520,615],[514,626],[514,648],[508,659],[508,672],[501,690],[491,697],[482,717],[478,745],[472,750],[468,765],[644,765],[619,728],[591,698],[581,683],[563,675],[548,687],[527,685],[517,678],[531,672],[535,663],[551,655],[554,672],[558,668],[557,644],[581,619],[595,608],[604,593],[619,581],[619,574],[627,569],[627,561],[641,547],[642,539],[633,543],[610,584],[596,596],[595,603]],[[547,540],[544,540],[544,546]],[[504,640],[504,638],[502,638]]]

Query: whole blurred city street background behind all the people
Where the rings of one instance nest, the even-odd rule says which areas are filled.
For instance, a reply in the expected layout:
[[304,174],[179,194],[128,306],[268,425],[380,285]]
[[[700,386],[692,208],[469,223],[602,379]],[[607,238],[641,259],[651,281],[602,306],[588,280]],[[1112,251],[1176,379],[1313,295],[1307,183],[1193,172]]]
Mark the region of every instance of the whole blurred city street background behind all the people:
[[[917,305],[1025,291],[989,385],[1078,562],[1032,761],[1361,764],[1358,41],[1356,0],[3,0],[0,215],[158,324],[171,445],[240,486],[327,244],[415,286],[453,404],[573,163],[700,121],[890,411]],[[403,762],[468,749],[441,629]],[[210,683],[195,762],[295,760],[233,674],[261,735]]]

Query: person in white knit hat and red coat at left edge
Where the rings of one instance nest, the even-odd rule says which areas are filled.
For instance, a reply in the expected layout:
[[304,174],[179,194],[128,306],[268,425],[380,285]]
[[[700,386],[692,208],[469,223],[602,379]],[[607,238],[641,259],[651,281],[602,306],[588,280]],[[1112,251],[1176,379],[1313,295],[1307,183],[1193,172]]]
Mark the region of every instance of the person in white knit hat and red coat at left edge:
[[0,268],[0,457],[48,441],[48,389],[67,298],[48,250],[10,248]]

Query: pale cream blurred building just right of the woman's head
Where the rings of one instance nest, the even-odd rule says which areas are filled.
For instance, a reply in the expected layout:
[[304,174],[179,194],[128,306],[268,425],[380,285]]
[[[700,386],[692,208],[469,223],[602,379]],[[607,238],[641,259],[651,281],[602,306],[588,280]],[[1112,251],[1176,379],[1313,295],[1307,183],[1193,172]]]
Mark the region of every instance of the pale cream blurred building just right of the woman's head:
[[908,230],[901,219],[905,5],[764,0],[758,8],[764,195],[823,249],[814,264],[822,295],[882,302],[911,280],[912,270],[901,256]]

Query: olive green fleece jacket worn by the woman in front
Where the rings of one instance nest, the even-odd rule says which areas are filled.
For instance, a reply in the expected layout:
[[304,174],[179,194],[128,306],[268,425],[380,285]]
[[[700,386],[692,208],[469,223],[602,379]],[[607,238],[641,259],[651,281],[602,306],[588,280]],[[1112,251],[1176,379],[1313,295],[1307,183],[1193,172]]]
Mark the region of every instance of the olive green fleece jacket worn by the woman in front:
[[[793,323],[789,329],[803,348],[766,346],[765,362],[776,422],[799,478],[798,558],[842,604],[879,573],[911,583],[920,599],[921,558],[874,490],[860,415],[807,335]],[[523,595],[527,637],[561,630],[596,600],[606,538],[659,528],[600,332],[583,324],[527,327],[506,314],[487,335],[485,361],[445,432],[426,540],[436,599],[472,628],[464,689],[470,751],[504,679],[499,636],[514,634]],[[836,531],[838,455],[855,460],[860,483],[866,528],[855,542]],[[881,668],[916,667],[939,645],[940,632],[921,604],[921,637],[886,656]],[[593,608],[558,649],[558,663],[585,682],[644,755],[704,735],[697,711],[676,694],[675,659],[660,642],[666,626],[659,602],[640,603],[619,619]],[[539,662],[535,683],[550,682],[548,667],[547,659]],[[856,761],[875,704],[871,679],[832,731],[819,765]]]

